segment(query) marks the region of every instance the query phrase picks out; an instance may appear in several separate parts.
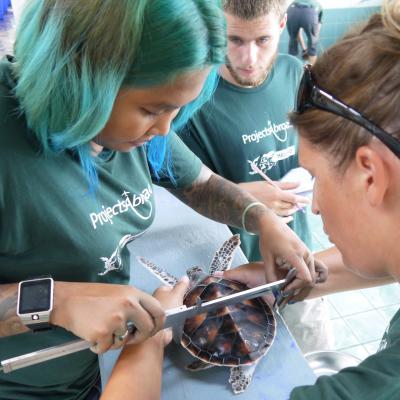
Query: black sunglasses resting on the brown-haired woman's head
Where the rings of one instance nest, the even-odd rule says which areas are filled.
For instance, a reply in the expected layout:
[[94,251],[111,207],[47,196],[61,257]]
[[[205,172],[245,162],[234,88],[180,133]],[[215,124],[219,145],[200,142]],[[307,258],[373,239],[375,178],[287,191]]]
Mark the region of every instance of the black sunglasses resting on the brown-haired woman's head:
[[321,110],[328,111],[365,128],[368,132],[384,143],[397,157],[400,158],[399,140],[385,132],[382,128],[374,124],[359,111],[321,89],[313,78],[311,65],[305,65],[304,74],[297,92],[295,112],[302,114],[304,111],[311,108],[319,108]]

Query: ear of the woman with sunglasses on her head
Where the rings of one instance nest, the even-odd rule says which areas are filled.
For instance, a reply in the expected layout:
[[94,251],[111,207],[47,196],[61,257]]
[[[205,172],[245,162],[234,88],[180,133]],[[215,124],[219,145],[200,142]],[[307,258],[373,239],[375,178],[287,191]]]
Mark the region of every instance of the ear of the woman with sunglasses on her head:
[[370,146],[361,146],[355,155],[360,183],[372,207],[382,204],[390,185],[390,168],[385,161],[385,153]]

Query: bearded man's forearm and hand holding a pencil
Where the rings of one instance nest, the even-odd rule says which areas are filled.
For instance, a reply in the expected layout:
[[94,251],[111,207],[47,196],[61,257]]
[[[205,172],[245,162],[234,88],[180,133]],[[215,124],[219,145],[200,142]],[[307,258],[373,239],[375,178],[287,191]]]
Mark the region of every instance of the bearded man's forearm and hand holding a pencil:
[[299,210],[298,206],[303,207],[310,203],[307,197],[290,192],[299,186],[299,183],[279,181],[274,183],[277,187],[266,181],[243,182],[238,185],[281,217],[293,215]]

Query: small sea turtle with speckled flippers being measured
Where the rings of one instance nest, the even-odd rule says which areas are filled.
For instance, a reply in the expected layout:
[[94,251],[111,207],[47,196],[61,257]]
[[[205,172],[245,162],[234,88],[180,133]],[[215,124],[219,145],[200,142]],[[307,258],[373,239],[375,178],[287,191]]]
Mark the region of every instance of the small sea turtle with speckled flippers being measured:
[[[233,253],[240,245],[239,235],[232,236],[216,252],[209,272],[201,267],[189,268],[190,289],[184,304],[193,306],[247,289],[236,281],[213,276],[216,271],[230,268]],[[164,284],[173,286],[177,278],[152,262],[138,257],[138,261]],[[217,366],[231,367],[229,383],[235,394],[243,392],[257,362],[266,354],[275,337],[275,317],[271,307],[262,299],[241,303],[197,315],[185,321],[181,344],[196,360],[186,368],[199,371]]]

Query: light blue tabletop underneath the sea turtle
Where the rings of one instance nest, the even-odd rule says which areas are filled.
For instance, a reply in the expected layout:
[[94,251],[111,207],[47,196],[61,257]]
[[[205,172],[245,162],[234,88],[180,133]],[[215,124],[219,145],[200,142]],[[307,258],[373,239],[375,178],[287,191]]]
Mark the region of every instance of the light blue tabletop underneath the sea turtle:
[[[152,292],[160,282],[137,261],[143,256],[180,277],[194,265],[208,267],[213,253],[231,236],[226,225],[204,218],[186,207],[164,189],[155,190],[157,213],[152,227],[132,242],[131,283]],[[247,262],[236,252],[233,266]],[[253,382],[247,391],[234,395],[228,383],[229,370],[210,368],[192,373],[185,370],[191,356],[173,343],[166,350],[162,400],[286,400],[292,388],[312,384],[315,375],[279,315],[277,335],[267,355],[257,366]],[[118,352],[100,357],[103,384],[108,379]],[[208,397],[207,397],[208,396]]]

